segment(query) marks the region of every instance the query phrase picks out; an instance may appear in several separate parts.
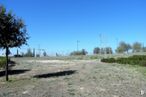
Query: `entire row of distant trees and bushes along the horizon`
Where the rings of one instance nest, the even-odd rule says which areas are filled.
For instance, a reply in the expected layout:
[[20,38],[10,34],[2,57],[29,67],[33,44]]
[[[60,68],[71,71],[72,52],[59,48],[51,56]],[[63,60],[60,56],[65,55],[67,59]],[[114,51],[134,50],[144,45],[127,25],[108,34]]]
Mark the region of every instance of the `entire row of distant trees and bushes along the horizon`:
[[[118,47],[116,48],[116,53],[128,53],[129,51],[136,53],[136,52],[146,52],[146,47],[143,47],[140,42],[135,42],[132,45],[126,42],[120,42]],[[80,51],[73,51],[70,53],[70,55],[87,55],[88,52],[85,49],[82,49]],[[95,47],[93,49],[93,54],[113,54],[113,49],[111,47],[104,47],[99,48]],[[42,53],[43,56],[47,56],[47,53],[44,51]],[[57,54],[58,55],[58,54]],[[56,56],[57,56],[56,55]],[[27,49],[26,53],[23,53],[22,56],[24,57],[40,57],[40,54],[35,54],[35,49]]]

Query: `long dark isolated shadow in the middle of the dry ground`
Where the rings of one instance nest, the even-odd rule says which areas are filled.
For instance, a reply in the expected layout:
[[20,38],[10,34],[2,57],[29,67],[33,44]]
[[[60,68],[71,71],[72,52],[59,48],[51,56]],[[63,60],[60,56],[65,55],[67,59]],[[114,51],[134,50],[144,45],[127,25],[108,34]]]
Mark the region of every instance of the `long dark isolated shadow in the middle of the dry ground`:
[[55,72],[55,73],[35,75],[34,78],[60,77],[60,76],[72,75],[74,73],[76,73],[76,70],[68,70],[68,71],[61,71],[61,72]]

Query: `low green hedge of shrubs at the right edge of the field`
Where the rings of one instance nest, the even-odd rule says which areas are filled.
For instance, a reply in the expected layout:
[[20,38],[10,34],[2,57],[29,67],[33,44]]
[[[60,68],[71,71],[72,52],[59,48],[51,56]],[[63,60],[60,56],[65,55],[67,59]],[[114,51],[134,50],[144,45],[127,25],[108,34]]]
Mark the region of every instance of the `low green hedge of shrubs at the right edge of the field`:
[[146,55],[133,55],[128,58],[103,58],[102,62],[146,66]]

